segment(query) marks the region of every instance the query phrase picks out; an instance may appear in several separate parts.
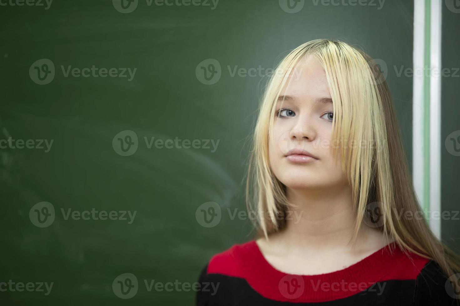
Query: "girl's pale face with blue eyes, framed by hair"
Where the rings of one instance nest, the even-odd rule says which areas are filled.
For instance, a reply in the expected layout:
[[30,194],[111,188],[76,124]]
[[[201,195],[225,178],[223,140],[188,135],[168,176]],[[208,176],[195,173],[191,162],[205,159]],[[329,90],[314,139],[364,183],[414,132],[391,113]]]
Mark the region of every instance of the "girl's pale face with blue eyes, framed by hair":
[[337,143],[331,140],[334,114],[326,72],[314,56],[294,69],[276,103],[271,169],[291,189],[344,186],[339,154],[334,159],[331,152]]

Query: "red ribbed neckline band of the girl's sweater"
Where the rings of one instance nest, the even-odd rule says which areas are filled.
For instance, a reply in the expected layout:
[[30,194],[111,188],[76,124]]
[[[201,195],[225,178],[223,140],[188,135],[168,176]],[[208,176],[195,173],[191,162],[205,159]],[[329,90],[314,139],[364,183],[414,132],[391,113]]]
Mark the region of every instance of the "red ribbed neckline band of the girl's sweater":
[[[314,275],[277,270],[265,259],[255,240],[244,244],[243,249],[247,250],[246,262],[243,263],[247,282],[259,294],[278,301],[309,303],[337,300],[359,294],[377,282],[413,279],[419,273],[418,269],[409,266],[409,257],[395,242],[342,270]],[[422,261],[423,267],[426,260]]]

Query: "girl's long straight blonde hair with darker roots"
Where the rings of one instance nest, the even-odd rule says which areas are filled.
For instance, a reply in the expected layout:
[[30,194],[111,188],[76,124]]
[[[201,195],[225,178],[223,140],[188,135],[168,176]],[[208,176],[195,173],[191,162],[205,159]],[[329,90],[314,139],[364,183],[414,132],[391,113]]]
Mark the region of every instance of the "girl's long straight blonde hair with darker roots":
[[[421,213],[403,151],[397,117],[388,86],[375,61],[362,50],[337,40],[316,39],[292,50],[278,65],[259,108],[248,167],[246,200],[248,210],[264,212],[256,224],[259,234],[285,227],[284,215],[291,206],[286,186],[270,169],[269,137],[278,96],[296,64],[316,56],[326,72],[332,96],[334,119],[332,139],[339,141],[333,156],[340,154],[342,170],[352,189],[356,239],[369,203],[378,203],[383,217],[381,230],[404,251],[432,259],[451,275],[460,271],[459,257],[440,242],[425,220],[398,218],[399,211]],[[356,120],[359,118],[359,120]],[[354,119],[354,120],[353,120]],[[350,148],[347,139],[372,140],[369,148]]]

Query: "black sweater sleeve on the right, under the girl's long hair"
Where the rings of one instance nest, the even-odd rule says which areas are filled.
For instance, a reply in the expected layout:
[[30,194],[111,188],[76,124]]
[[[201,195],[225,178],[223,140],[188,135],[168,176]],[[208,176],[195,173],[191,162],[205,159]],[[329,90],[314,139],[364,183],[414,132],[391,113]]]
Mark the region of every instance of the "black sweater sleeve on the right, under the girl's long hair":
[[441,267],[429,261],[416,279],[414,305],[460,305],[454,296],[454,288]]

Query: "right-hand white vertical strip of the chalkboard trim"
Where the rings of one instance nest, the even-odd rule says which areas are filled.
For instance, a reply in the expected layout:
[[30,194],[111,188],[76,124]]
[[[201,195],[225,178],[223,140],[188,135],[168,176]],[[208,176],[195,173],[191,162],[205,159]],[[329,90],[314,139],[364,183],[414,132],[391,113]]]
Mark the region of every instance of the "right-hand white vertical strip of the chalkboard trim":
[[[441,214],[441,0],[431,0],[430,22],[430,210]],[[441,215],[438,215],[441,216]],[[441,217],[430,227],[441,238]]]

